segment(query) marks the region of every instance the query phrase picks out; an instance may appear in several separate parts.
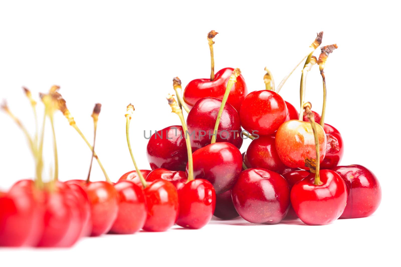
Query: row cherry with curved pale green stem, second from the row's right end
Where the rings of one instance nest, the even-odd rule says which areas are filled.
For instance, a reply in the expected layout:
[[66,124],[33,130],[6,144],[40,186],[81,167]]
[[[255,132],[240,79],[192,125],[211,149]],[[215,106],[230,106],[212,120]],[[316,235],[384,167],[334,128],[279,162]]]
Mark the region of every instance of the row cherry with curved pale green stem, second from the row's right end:
[[[139,170],[130,142],[130,122],[134,106],[129,104],[126,113],[126,136],[128,150],[130,151],[132,163],[136,170],[142,187],[144,188],[145,203],[147,206],[147,217],[143,229],[146,231],[166,231],[172,227],[178,217],[178,192],[172,183],[163,179],[155,179],[147,183],[142,172]],[[156,169],[157,170],[157,169]],[[126,222],[130,223],[130,222]]]

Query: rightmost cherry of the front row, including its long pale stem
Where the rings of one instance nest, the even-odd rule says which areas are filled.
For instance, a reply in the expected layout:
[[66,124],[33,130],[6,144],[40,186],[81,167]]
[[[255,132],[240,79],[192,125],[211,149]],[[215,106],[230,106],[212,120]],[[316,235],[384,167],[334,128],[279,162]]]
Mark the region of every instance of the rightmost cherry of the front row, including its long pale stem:
[[[167,100],[172,112],[178,115],[182,128],[187,132],[188,129],[182,115],[182,110],[178,107],[172,96],[169,95]],[[216,193],[209,181],[204,179],[194,180],[192,148],[187,135],[185,135],[185,142],[188,154],[188,178],[179,178],[174,181],[180,201],[180,212],[176,223],[185,228],[200,229],[207,225],[213,217],[216,205]]]

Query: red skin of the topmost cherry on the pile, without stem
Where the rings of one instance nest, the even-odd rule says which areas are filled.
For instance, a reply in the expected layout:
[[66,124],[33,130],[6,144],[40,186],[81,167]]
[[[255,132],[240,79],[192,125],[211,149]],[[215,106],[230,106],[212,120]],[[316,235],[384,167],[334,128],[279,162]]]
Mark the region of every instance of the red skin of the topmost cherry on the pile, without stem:
[[[201,98],[215,97],[223,99],[224,92],[227,87],[228,80],[233,74],[233,68],[223,68],[215,74],[215,79],[196,79],[190,81],[184,89],[184,100],[191,108]],[[227,102],[236,110],[241,107],[242,101],[247,96],[247,85],[242,75],[237,77],[237,82],[234,83],[228,96]]]

